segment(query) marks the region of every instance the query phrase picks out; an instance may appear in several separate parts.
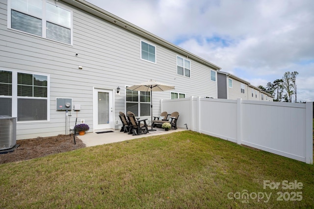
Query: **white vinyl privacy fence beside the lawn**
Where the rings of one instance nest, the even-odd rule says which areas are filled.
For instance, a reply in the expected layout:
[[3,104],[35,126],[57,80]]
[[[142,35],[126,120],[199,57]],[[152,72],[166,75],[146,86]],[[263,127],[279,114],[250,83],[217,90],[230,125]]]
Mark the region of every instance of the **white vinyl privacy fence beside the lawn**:
[[160,103],[161,112],[179,112],[180,128],[313,163],[313,102],[190,97]]

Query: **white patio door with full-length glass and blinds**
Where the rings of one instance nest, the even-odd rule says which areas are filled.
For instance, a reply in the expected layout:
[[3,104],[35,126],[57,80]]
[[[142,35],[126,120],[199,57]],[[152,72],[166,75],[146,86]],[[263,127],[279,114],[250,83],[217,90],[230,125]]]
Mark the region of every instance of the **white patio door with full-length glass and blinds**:
[[94,130],[114,129],[112,91],[94,89]]

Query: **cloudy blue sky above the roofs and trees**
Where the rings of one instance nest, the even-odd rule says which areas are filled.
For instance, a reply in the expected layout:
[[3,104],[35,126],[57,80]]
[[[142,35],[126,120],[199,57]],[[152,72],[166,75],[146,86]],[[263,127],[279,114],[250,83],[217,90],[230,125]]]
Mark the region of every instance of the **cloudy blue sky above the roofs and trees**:
[[314,101],[314,0],[87,1],[254,86],[297,71]]

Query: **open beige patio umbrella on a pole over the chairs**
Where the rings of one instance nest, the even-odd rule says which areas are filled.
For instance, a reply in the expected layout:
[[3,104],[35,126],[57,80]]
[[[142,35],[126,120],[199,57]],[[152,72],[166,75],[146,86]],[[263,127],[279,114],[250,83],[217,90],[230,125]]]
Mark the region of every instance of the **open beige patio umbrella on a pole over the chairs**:
[[137,84],[131,87],[127,87],[129,90],[140,91],[140,92],[151,92],[151,115],[152,115],[152,129],[149,131],[156,131],[153,129],[153,93],[152,92],[163,92],[175,89],[174,86],[168,84],[159,83],[154,80],[149,80],[141,84]]

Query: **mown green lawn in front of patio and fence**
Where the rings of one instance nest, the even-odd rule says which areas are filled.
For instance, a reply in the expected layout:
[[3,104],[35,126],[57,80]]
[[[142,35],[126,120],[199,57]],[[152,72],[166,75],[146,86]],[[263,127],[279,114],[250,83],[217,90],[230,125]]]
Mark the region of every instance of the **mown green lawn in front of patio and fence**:
[[[191,131],[1,164],[0,171],[6,209],[314,208],[314,165]],[[264,188],[264,181],[280,185]]]

